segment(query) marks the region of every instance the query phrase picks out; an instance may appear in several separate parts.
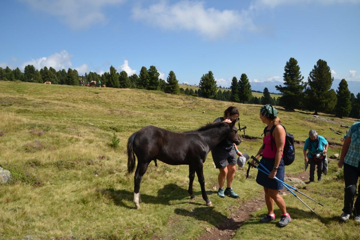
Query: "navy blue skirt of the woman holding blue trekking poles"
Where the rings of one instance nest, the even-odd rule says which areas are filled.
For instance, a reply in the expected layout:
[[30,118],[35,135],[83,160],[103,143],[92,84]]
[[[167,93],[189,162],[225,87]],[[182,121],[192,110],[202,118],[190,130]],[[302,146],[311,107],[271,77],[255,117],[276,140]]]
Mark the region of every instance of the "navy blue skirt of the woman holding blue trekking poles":
[[[262,157],[260,163],[271,172],[275,164],[275,158]],[[258,168],[264,170],[264,168],[260,165],[258,166]],[[285,165],[284,165],[284,160],[281,159],[279,169],[276,172],[275,176],[279,178],[281,181],[284,181],[284,175],[285,175]],[[277,189],[277,190],[283,189],[283,184],[281,182],[269,178],[269,174],[267,173],[265,174],[261,171],[257,172],[256,182],[261,186],[267,187],[269,189]]]

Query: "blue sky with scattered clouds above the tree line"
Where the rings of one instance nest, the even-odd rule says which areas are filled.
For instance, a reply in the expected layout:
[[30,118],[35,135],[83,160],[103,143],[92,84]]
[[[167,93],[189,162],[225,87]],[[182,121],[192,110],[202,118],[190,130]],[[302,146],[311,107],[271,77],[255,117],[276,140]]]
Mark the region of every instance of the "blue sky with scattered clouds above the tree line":
[[212,71],[230,86],[282,81],[297,59],[307,80],[318,59],[334,78],[360,81],[360,0],[14,0],[0,9],[0,67],[137,73],[197,84]]

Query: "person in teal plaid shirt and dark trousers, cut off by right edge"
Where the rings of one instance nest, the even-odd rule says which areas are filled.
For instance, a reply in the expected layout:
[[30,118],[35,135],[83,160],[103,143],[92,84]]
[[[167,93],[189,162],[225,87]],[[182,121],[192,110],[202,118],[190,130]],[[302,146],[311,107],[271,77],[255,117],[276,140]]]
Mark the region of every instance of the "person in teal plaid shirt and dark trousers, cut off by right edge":
[[[360,122],[352,124],[342,147],[338,167],[344,166],[344,208],[340,219],[347,222],[352,213],[355,221],[360,223],[360,197],[357,196],[355,204],[356,184],[360,177]],[[360,191],[360,185],[359,190]],[[354,208],[353,208],[354,207]]]

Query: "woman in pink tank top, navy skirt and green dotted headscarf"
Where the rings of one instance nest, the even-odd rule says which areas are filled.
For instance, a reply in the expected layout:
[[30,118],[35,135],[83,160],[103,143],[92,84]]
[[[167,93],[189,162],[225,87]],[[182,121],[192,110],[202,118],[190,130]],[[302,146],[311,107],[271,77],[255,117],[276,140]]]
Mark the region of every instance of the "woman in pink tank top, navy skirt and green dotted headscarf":
[[[284,227],[291,222],[290,214],[286,212],[285,201],[282,196],[279,195],[279,190],[283,189],[283,184],[276,181],[276,176],[281,181],[284,181],[285,165],[283,160],[283,149],[285,145],[285,129],[280,124],[278,117],[278,110],[272,105],[266,104],[260,109],[260,119],[262,123],[267,125],[265,130],[264,139],[262,139],[262,146],[256,154],[256,158],[262,158],[261,164],[264,165],[270,172],[269,175],[258,171],[256,176],[256,182],[264,187],[265,202],[267,207],[267,214],[260,219],[260,222],[266,223],[275,220],[274,202],[281,210],[281,218],[279,226]],[[273,128],[273,126],[275,126]],[[270,131],[272,134],[270,136]],[[273,143],[275,142],[275,144]],[[255,160],[252,160],[255,164]]]

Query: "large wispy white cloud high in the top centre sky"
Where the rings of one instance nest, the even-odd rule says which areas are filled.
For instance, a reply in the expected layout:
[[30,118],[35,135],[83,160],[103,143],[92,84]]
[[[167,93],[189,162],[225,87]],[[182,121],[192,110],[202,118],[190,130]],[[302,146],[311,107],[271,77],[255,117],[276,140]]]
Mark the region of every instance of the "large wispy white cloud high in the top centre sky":
[[173,5],[168,1],[160,1],[150,5],[149,8],[134,8],[132,17],[143,20],[151,26],[195,31],[211,39],[223,37],[230,31],[255,28],[247,11],[220,11],[215,8],[205,8],[204,5],[203,1],[183,0]]

